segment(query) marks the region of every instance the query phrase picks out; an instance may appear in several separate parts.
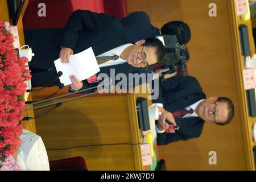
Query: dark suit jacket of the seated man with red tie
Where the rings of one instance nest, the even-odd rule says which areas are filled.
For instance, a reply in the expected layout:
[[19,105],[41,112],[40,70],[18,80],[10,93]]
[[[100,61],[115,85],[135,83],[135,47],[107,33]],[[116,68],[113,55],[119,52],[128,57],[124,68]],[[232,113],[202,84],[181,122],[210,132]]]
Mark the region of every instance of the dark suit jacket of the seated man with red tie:
[[[155,103],[163,103],[164,109],[173,112],[195,104],[205,99],[206,96],[195,77],[182,77],[177,75],[163,82],[160,82],[160,92]],[[177,140],[200,137],[204,121],[199,117],[176,118],[177,126],[180,126],[176,133],[158,134],[158,144],[168,144]]]

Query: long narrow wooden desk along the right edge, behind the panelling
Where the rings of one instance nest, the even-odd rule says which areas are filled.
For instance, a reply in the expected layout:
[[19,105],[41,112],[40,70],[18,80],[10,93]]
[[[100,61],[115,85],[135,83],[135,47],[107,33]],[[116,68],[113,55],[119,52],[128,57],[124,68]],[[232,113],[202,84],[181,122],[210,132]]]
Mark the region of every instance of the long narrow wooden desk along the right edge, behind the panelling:
[[254,167],[254,159],[253,159],[253,146],[256,146],[256,143],[253,141],[252,136],[252,128],[254,123],[256,122],[256,118],[249,117],[248,108],[247,108],[247,100],[245,88],[243,86],[243,76],[242,69],[245,67],[244,60],[245,57],[242,56],[241,53],[241,45],[240,45],[240,36],[239,36],[239,26],[241,24],[245,24],[249,30],[249,39],[250,39],[250,49],[251,55],[255,52],[254,47],[254,39],[253,39],[253,31],[252,31],[252,23],[251,19],[247,21],[243,21],[240,16],[236,14],[236,3],[235,1],[230,1],[229,5],[229,13],[230,13],[230,24],[233,27],[232,37],[233,37],[233,52],[234,52],[234,67],[236,69],[236,80],[238,86],[238,100],[241,106],[241,122],[242,122],[242,133],[243,133],[243,144],[245,149],[245,160],[247,164],[247,169],[255,170]]

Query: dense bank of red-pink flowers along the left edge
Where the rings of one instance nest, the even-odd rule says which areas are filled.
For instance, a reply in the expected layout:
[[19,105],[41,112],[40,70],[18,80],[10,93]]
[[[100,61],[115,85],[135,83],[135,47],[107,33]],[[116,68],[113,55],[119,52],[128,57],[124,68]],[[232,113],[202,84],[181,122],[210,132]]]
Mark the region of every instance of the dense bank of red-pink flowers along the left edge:
[[31,75],[24,65],[27,58],[18,57],[13,48],[13,34],[3,27],[3,23],[0,20],[0,169],[9,169],[13,163],[7,162],[7,167],[3,163],[18,151],[21,144],[19,135],[22,134],[26,92],[24,81]]

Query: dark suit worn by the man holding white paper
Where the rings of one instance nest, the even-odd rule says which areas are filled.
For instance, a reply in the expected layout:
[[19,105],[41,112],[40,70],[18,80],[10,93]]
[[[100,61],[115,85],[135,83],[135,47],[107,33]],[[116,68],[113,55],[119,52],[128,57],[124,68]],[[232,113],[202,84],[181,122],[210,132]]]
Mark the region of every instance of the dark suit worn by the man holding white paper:
[[[97,56],[123,44],[131,43],[119,19],[86,10],[74,11],[64,30],[27,30],[25,38],[31,47],[34,46],[35,61],[31,61],[30,67],[43,69],[53,67],[53,61],[59,57],[60,46],[71,48],[74,53],[92,47]],[[101,72],[97,75],[106,73],[110,77],[110,68],[115,69],[115,75],[118,73],[128,75],[128,73],[149,73],[153,67],[144,71],[142,68],[134,68],[125,63],[101,68]],[[82,89],[95,85],[88,84],[86,80],[83,82]]]

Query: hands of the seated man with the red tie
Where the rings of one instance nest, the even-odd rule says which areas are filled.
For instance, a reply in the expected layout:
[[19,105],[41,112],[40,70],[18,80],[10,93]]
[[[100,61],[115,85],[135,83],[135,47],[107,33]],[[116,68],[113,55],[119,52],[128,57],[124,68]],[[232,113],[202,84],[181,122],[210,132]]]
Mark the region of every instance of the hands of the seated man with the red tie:
[[167,119],[167,121],[172,123],[174,126],[177,126],[172,113],[168,112],[167,110],[164,110],[163,107],[158,107],[158,109],[162,113],[161,115],[159,115],[159,118],[158,118],[158,129],[159,130],[168,129],[169,124],[166,122],[166,119]]

